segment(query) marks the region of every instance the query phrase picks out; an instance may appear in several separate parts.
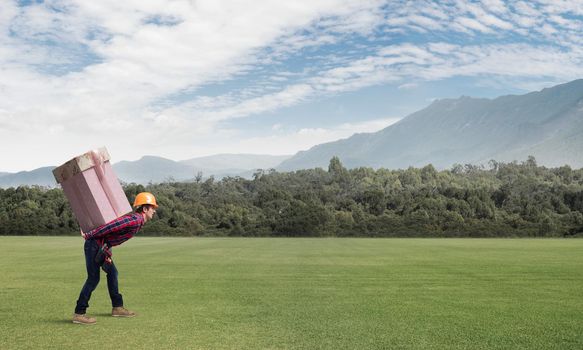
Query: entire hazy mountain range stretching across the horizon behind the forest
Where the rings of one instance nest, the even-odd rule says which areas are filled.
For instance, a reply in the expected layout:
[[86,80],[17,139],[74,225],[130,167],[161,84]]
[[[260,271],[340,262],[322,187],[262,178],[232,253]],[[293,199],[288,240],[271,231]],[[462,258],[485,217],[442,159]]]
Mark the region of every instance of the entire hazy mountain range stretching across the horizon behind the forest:
[[[146,184],[191,180],[199,172],[204,177],[250,178],[256,169],[326,168],[334,156],[348,168],[433,164],[444,169],[530,155],[541,165],[583,167],[583,79],[525,95],[437,100],[378,132],[355,134],[294,156],[222,154],[178,162],[145,156],[114,163],[113,168],[124,182]],[[0,187],[56,186],[53,168],[0,173]]]

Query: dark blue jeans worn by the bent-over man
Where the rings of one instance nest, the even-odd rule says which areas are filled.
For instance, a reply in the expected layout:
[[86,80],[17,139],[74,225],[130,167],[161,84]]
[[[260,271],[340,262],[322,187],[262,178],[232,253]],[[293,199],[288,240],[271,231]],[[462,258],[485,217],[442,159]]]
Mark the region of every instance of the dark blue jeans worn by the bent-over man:
[[[99,250],[99,245],[93,239],[88,239],[85,241],[85,266],[87,267],[87,280],[81,293],[79,294],[79,299],[77,300],[77,306],[75,307],[76,314],[84,314],[89,307],[89,299],[91,298],[91,293],[97,288],[99,284],[100,266],[95,262],[95,255]],[[122,295],[119,294],[118,284],[117,284],[117,268],[113,261],[111,264],[104,263],[103,271],[107,274],[107,289],[109,290],[109,296],[111,298],[111,306],[118,307],[123,306]]]

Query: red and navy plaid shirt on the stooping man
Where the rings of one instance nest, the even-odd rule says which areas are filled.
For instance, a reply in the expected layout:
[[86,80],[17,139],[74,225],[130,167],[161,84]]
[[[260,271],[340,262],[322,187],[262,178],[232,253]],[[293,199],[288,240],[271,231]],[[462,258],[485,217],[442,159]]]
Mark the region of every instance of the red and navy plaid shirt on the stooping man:
[[115,247],[132,238],[142,226],[144,226],[142,214],[130,213],[87,232],[86,239],[95,239],[100,245],[107,243],[108,246]]

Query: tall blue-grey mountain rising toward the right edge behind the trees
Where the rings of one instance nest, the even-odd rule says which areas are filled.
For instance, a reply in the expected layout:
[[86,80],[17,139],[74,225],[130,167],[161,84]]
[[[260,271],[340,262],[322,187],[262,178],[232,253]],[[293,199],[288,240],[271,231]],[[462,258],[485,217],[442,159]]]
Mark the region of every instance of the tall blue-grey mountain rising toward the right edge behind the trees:
[[525,160],[583,166],[583,79],[495,99],[433,102],[375,133],[355,134],[297,153],[278,170],[327,167],[338,156],[349,168],[407,168]]

